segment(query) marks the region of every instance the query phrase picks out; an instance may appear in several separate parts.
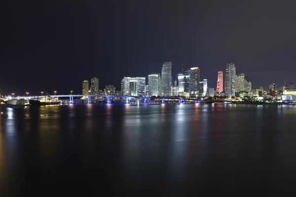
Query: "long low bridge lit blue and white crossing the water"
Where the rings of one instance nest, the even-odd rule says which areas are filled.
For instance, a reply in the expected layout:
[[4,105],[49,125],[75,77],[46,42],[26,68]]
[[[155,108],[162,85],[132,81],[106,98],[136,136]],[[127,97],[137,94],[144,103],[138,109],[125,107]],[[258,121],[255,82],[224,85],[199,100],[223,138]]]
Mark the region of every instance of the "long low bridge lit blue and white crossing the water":
[[[50,96],[30,96],[30,97],[12,97],[10,99],[42,99],[42,98],[58,98],[61,101],[67,102],[67,103],[95,103],[98,98],[103,98],[104,101],[106,100],[107,103],[120,103],[123,101],[123,103],[130,103],[130,102],[136,102],[136,101],[143,101],[144,103],[151,103],[151,101],[161,101],[161,103],[166,102],[191,102],[191,103],[198,103],[200,99],[194,99],[194,98],[179,98],[179,97],[146,97],[146,96],[114,96],[114,95],[50,95]],[[85,98],[85,99],[83,99]]]

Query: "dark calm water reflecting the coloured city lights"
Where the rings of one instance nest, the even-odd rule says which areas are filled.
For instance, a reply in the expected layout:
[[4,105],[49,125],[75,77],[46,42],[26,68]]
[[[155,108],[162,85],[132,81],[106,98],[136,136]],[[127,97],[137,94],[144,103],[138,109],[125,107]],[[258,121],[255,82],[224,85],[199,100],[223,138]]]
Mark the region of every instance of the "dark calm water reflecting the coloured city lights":
[[1,197],[295,192],[294,105],[0,110]]

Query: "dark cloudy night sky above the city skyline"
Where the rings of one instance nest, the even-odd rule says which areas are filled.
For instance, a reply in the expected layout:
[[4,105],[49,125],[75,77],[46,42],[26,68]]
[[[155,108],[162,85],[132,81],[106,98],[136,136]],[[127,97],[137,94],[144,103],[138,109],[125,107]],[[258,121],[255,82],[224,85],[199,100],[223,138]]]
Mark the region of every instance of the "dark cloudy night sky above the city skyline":
[[81,94],[98,77],[200,67],[210,87],[234,63],[253,89],[296,83],[295,0],[36,0],[0,8],[0,94]]

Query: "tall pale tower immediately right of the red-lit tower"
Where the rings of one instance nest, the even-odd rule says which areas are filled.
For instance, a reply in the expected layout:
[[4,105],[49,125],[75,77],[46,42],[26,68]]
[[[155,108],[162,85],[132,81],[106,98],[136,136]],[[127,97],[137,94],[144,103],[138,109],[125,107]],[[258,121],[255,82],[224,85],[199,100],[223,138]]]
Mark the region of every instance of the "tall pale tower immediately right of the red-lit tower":
[[234,97],[236,91],[236,71],[234,64],[227,64],[225,70],[224,92],[226,97]]

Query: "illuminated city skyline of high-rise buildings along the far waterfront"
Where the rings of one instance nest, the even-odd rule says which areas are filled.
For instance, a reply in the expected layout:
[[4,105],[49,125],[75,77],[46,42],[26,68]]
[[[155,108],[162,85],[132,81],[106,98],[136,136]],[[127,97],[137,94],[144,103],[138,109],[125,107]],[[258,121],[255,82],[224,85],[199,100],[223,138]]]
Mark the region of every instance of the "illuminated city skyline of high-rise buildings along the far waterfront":
[[[146,77],[123,77],[120,91],[113,85],[106,85],[104,90],[99,89],[99,79],[93,77],[90,81],[82,82],[83,95],[116,95],[116,96],[155,96],[155,97],[296,97],[293,83],[279,88],[273,83],[269,90],[263,88],[252,90],[252,83],[247,81],[244,73],[237,74],[234,64],[226,64],[225,72],[218,71],[217,87],[208,87],[208,80],[201,78],[200,68],[183,69],[173,79],[172,62],[164,62],[161,73],[153,73]],[[146,84],[148,82],[148,84]],[[288,99],[289,99],[288,98]]]

